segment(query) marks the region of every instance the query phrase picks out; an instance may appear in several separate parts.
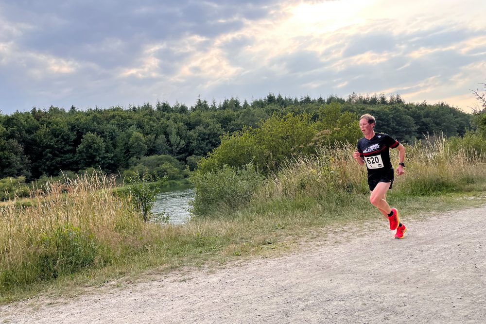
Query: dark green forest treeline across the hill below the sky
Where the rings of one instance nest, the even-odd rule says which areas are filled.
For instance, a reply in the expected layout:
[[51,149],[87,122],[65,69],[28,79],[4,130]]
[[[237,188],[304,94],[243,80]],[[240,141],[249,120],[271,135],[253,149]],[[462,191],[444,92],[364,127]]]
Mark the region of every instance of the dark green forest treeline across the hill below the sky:
[[186,165],[193,170],[225,134],[259,127],[260,120],[275,114],[306,114],[315,121],[331,103],[355,118],[365,112],[373,114],[378,131],[405,142],[427,133],[461,136],[472,127],[471,115],[446,103],[406,103],[399,95],[354,93],[346,99],[269,94],[250,103],[238,98],[220,103],[198,99],[190,107],[156,102],[108,109],[33,108],[0,115],[0,179],[22,176],[32,181],[56,176],[61,170],[89,168],[122,173],[141,170],[144,163],[158,174],[172,172],[180,177]]

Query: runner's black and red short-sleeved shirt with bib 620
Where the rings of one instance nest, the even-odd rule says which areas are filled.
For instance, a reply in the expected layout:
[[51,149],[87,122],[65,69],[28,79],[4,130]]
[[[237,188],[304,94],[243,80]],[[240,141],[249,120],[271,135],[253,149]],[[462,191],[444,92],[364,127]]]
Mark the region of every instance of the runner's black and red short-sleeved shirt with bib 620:
[[371,139],[364,137],[359,139],[358,152],[360,157],[364,159],[368,176],[387,172],[390,169],[393,171],[389,149],[394,149],[399,145],[400,143],[396,139],[382,133],[375,133],[375,136]]

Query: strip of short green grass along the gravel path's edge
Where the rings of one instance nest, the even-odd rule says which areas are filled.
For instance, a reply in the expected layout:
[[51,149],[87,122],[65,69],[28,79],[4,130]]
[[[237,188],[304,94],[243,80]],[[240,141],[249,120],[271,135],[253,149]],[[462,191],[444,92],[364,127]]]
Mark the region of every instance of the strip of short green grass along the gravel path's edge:
[[[403,220],[486,202],[484,192],[418,198],[392,196],[389,201],[400,209]],[[468,199],[470,197],[477,199]],[[131,251],[103,267],[86,268],[23,287],[10,287],[2,292],[0,303],[41,292],[74,296],[86,293],[87,287],[122,287],[127,282],[149,280],[152,275],[186,267],[218,267],[241,258],[292,252],[299,248],[302,240],[322,239],[329,226],[380,219],[381,214],[367,199],[367,195],[354,197],[354,204],[347,206],[326,201],[302,204],[302,200],[289,200],[278,205],[293,207],[292,210],[285,207],[276,210],[272,204],[255,205],[224,217],[196,218],[187,225],[165,226],[139,251]]]

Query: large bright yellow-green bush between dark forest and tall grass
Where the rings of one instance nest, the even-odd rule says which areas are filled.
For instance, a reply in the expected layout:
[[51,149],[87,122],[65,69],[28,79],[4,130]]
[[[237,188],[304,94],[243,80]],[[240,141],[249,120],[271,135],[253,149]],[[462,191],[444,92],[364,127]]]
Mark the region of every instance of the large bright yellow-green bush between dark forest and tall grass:
[[[202,172],[216,171],[223,165],[242,167],[248,163],[264,174],[278,170],[290,158],[316,154],[317,148],[354,142],[362,136],[356,116],[341,113],[338,103],[324,105],[316,120],[310,115],[279,115],[260,121],[258,128],[225,135],[221,144],[198,164]],[[314,116],[315,118],[315,116]]]

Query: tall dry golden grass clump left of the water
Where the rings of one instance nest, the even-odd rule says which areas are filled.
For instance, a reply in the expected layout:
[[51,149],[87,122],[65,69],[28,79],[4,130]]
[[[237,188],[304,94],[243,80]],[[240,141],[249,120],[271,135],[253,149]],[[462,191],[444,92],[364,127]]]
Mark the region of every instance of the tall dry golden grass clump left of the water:
[[154,227],[133,208],[130,195],[95,174],[47,183],[29,207],[15,200],[0,208],[0,292],[104,266],[143,249]]

